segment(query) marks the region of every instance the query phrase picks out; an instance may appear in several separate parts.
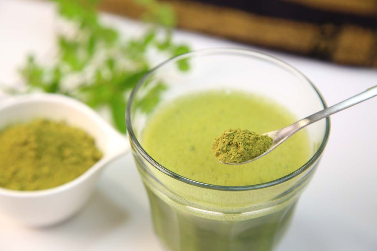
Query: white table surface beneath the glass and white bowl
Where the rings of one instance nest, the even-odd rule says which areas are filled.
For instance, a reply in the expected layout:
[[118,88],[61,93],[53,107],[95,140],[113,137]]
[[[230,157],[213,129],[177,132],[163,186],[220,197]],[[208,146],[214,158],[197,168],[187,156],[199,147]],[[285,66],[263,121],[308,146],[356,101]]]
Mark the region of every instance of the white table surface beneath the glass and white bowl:
[[[0,0],[0,83],[17,82],[15,69],[28,52],[46,53],[54,43],[54,8],[49,3]],[[135,21],[106,15],[134,34]],[[175,39],[193,49],[242,46],[190,32]],[[254,48],[255,49],[255,48]],[[329,105],[377,84],[377,71],[263,50],[305,73]],[[303,193],[280,251],[377,250],[377,98],[332,116],[322,163]],[[0,251],[162,251],[153,234],[146,193],[130,155],[111,164],[90,202],[74,218],[44,229],[17,225],[0,214]]]

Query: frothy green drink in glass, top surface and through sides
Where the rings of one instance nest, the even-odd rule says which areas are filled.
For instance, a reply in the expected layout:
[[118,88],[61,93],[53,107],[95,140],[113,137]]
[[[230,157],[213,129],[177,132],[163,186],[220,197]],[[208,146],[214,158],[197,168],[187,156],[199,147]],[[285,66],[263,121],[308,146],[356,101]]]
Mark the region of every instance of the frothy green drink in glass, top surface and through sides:
[[[300,131],[250,164],[229,166],[216,160],[211,145],[226,128],[261,134],[296,121],[289,111],[263,97],[208,91],[179,97],[156,110],[144,128],[141,145],[158,163],[195,181],[222,186],[261,184],[294,172],[310,158],[308,135]],[[270,251],[290,222],[294,194],[309,179],[303,178],[297,186],[212,190],[177,181],[152,167],[157,182],[135,158],[149,195],[153,226],[172,251]]]

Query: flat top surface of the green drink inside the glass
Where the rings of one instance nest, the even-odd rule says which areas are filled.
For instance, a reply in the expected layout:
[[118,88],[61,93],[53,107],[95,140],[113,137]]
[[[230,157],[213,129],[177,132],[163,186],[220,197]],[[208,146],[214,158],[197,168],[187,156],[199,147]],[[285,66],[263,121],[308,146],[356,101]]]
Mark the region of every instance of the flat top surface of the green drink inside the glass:
[[300,131],[250,164],[228,166],[213,156],[213,140],[227,128],[259,134],[295,122],[287,110],[262,97],[214,91],[181,97],[156,112],[144,129],[142,145],[158,163],[179,175],[208,184],[246,186],[285,176],[309,159],[309,143]]

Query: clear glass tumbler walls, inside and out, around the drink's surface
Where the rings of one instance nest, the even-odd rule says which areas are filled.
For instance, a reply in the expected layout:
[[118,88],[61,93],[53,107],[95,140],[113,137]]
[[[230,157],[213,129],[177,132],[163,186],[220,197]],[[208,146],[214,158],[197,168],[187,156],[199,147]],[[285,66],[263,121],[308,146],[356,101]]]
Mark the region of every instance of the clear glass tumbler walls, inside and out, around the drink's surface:
[[[178,70],[177,64],[184,61],[189,62],[190,69]],[[147,74],[130,96],[127,129],[149,196],[155,232],[167,250],[272,250],[287,229],[297,199],[326,146],[329,119],[306,128],[311,148],[306,164],[268,183],[233,187],[185,178],[143,149],[142,132],[153,111],[183,94],[224,88],[274,100],[297,119],[326,107],[302,73],[277,58],[251,50],[198,50],[169,59]],[[156,93],[159,98],[143,102],[144,97]]]

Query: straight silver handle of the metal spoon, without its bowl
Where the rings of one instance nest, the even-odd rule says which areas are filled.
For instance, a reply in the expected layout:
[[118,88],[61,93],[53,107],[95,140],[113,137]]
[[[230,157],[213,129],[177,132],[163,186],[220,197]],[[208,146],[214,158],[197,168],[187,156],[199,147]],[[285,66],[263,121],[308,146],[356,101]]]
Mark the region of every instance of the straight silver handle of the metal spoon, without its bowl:
[[298,131],[305,126],[308,126],[308,125],[310,125],[310,124],[312,124],[312,123],[314,123],[318,120],[321,120],[321,119],[324,119],[324,118],[330,116],[331,114],[342,111],[346,108],[349,108],[353,105],[356,105],[356,104],[363,102],[367,99],[370,99],[374,96],[377,96],[377,85],[369,88],[366,91],[363,91],[362,93],[359,93],[359,94],[357,94],[353,97],[350,97],[349,99],[346,99],[346,100],[344,100],[340,103],[337,103],[336,105],[330,106],[326,109],[323,109],[322,111],[319,111],[319,112],[314,113],[314,114],[312,114],[312,115],[310,115],[310,116],[308,116],[308,117],[306,117],[302,120],[299,120],[296,123],[292,124],[291,126],[293,126],[295,128],[295,131]]

